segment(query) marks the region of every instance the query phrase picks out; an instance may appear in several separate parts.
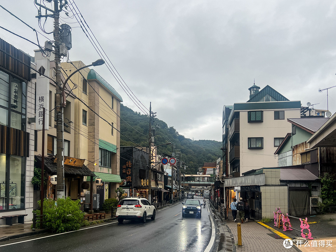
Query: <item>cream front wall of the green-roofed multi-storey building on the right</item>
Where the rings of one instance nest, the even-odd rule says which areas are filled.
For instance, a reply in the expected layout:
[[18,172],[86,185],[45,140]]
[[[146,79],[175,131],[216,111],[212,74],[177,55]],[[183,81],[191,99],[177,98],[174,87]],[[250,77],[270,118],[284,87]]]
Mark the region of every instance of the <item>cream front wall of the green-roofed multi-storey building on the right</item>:
[[[252,110],[249,110],[252,111]],[[274,120],[274,111],[285,111],[284,120]],[[277,167],[275,137],[292,131],[287,118],[300,118],[300,109],[263,110],[262,123],[248,123],[248,111],[240,111],[240,173],[264,167]],[[248,149],[249,137],[263,137],[263,149]],[[256,155],[257,154],[257,155]]]

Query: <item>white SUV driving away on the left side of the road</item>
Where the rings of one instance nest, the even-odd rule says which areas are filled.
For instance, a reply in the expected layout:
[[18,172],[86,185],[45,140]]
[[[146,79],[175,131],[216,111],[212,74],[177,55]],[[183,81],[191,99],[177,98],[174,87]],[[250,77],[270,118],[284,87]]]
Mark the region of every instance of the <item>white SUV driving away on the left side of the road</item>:
[[151,217],[155,220],[155,206],[153,206],[147,199],[140,197],[132,197],[122,199],[117,206],[116,217],[119,223],[124,220],[141,220],[146,222],[146,218]]

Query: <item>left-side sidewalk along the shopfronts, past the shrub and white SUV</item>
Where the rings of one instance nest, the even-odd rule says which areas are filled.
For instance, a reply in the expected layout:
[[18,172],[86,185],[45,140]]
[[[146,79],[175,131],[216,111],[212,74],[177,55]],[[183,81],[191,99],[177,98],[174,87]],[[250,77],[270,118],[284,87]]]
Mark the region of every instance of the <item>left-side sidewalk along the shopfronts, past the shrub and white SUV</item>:
[[[171,203],[166,203],[166,206],[160,207],[158,209],[164,209],[167,207],[170,207],[172,205],[180,204],[181,201],[177,201],[173,204]],[[111,214],[107,214],[107,216],[111,216]],[[112,221],[115,220],[116,218],[106,218],[102,219],[105,221]],[[96,221],[96,220],[94,220]],[[91,222],[91,221],[90,221]],[[0,225],[0,242],[2,241],[7,241],[11,239],[16,239],[20,237],[25,237],[25,236],[32,236],[32,235],[38,235],[42,233],[48,233],[48,230],[46,229],[36,229],[36,231],[32,231],[31,225],[33,224],[33,221],[25,221],[25,224],[13,224],[12,226],[8,225]]]

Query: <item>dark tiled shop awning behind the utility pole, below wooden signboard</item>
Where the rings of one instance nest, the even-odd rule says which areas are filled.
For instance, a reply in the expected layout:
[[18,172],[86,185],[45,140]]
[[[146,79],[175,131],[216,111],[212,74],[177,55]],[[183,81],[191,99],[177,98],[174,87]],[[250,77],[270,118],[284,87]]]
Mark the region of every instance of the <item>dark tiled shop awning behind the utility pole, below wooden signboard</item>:
[[[44,157],[44,169],[50,174],[57,174],[57,164],[54,163],[55,157],[47,156]],[[41,168],[42,156],[35,155],[36,166]],[[64,174],[65,175],[76,175],[76,176],[88,176],[90,180],[90,176],[94,176],[94,173],[87,168],[86,165],[82,167],[72,166],[72,165],[64,165]]]

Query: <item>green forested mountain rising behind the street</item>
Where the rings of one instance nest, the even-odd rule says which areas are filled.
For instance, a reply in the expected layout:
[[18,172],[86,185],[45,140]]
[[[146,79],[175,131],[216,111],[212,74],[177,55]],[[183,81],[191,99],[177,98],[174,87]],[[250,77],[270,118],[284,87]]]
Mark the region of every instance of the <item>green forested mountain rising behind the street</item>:
[[[120,107],[120,146],[148,146],[149,116],[134,112],[123,104]],[[168,127],[164,121],[159,119],[152,122],[152,127],[156,129],[155,145],[173,142],[175,145],[173,152],[180,152],[181,160],[189,168],[187,174],[196,174],[197,169],[203,166],[204,162],[215,162],[222,157],[221,142],[193,141],[180,135],[174,127]],[[158,153],[171,155],[172,145],[159,146]]]

